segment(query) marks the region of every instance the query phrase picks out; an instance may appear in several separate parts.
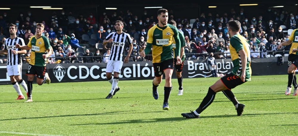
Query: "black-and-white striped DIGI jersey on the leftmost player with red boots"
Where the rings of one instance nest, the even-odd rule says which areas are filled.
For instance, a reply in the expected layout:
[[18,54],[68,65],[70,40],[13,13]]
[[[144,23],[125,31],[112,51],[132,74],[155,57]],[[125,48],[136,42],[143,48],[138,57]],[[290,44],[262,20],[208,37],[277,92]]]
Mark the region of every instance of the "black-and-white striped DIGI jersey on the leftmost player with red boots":
[[16,48],[16,44],[25,45],[24,39],[20,37],[16,37],[14,39],[7,38],[4,43],[4,50],[7,50],[7,65],[18,65],[22,64],[21,54],[12,54],[12,50],[21,51],[22,49]]

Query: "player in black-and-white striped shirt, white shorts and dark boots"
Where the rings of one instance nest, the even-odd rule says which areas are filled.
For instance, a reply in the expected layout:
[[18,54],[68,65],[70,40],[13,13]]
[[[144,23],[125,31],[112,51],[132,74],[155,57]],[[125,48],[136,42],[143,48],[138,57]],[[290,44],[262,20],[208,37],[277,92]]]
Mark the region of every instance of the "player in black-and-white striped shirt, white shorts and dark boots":
[[[106,77],[108,81],[112,84],[112,89],[106,99],[111,99],[113,95],[116,94],[117,91],[120,90],[118,87],[119,81],[119,73],[121,72],[122,64],[123,64],[123,51],[126,48],[125,44],[128,43],[129,50],[128,54],[124,59],[124,63],[128,63],[131,51],[133,49],[132,39],[128,33],[124,33],[123,22],[116,21],[115,28],[117,32],[110,33],[105,40],[103,40],[103,45],[107,43],[111,43],[111,53],[108,58],[108,63],[106,67]],[[114,72],[114,78],[112,76],[112,72]]]

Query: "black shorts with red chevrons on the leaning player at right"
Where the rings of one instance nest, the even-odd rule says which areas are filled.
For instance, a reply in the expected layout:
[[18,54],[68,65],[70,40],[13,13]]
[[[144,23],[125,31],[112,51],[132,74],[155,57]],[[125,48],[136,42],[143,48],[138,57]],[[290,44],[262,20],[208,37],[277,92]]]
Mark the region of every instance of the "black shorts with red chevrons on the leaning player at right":
[[221,78],[221,81],[223,82],[224,86],[226,86],[226,88],[229,90],[246,82],[243,82],[240,77],[232,74],[231,72],[223,76]]

